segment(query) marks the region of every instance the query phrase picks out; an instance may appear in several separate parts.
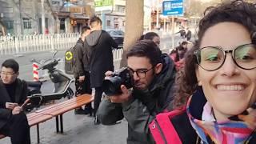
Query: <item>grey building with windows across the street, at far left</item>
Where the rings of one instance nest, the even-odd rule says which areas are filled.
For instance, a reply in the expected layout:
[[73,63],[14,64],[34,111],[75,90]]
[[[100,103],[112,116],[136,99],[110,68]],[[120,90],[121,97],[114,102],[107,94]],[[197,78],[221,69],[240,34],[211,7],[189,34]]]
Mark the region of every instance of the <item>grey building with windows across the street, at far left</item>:
[[[0,0],[1,22],[6,34],[42,33],[42,5],[34,0]],[[54,17],[44,2],[46,33],[54,31]]]

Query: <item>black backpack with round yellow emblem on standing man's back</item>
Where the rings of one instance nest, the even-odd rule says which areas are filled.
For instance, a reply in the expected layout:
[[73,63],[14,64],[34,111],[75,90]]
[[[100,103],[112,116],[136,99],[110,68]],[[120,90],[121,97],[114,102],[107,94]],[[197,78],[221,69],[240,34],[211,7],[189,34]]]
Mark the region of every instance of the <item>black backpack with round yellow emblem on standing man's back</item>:
[[[74,46],[75,47],[75,46]],[[65,52],[65,73],[74,74],[74,47]]]

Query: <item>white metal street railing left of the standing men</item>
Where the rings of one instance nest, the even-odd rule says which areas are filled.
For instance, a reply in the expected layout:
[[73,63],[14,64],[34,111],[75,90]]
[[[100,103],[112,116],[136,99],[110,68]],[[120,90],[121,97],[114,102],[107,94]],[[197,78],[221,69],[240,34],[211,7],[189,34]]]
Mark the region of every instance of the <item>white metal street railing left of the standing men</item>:
[[36,34],[0,37],[0,55],[22,54],[46,50],[66,50],[74,46],[78,33]]

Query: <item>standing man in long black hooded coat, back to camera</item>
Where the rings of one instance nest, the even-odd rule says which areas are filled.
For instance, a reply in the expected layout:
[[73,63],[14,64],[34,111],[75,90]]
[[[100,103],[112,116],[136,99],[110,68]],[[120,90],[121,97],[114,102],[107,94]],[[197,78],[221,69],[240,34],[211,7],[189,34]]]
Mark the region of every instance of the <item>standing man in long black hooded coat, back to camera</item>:
[[[91,49],[90,55],[90,87],[95,88],[94,116],[102,98],[102,82],[108,70],[114,70],[112,47],[118,47],[114,39],[102,30],[102,20],[96,16],[90,18],[91,32],[86,37],[86,45]],[[98,118],[95,117],[95,124]]]

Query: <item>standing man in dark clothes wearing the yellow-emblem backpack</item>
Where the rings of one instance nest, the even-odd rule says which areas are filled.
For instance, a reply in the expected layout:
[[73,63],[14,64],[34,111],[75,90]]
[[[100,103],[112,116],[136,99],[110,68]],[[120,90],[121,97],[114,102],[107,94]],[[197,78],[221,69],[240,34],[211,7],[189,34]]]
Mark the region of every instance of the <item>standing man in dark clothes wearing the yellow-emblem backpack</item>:
[[[75,89],[78,94],[91,94],[90,89],[90,50],[84,45],[86,36],[90,34],[90,27],[83,26],[81,38],[78,39],[74,46],[74,78]],[[74,114],[88,114],[91,110],[91,104],[86,106],[85,110],[82,107],[75,109]]]

